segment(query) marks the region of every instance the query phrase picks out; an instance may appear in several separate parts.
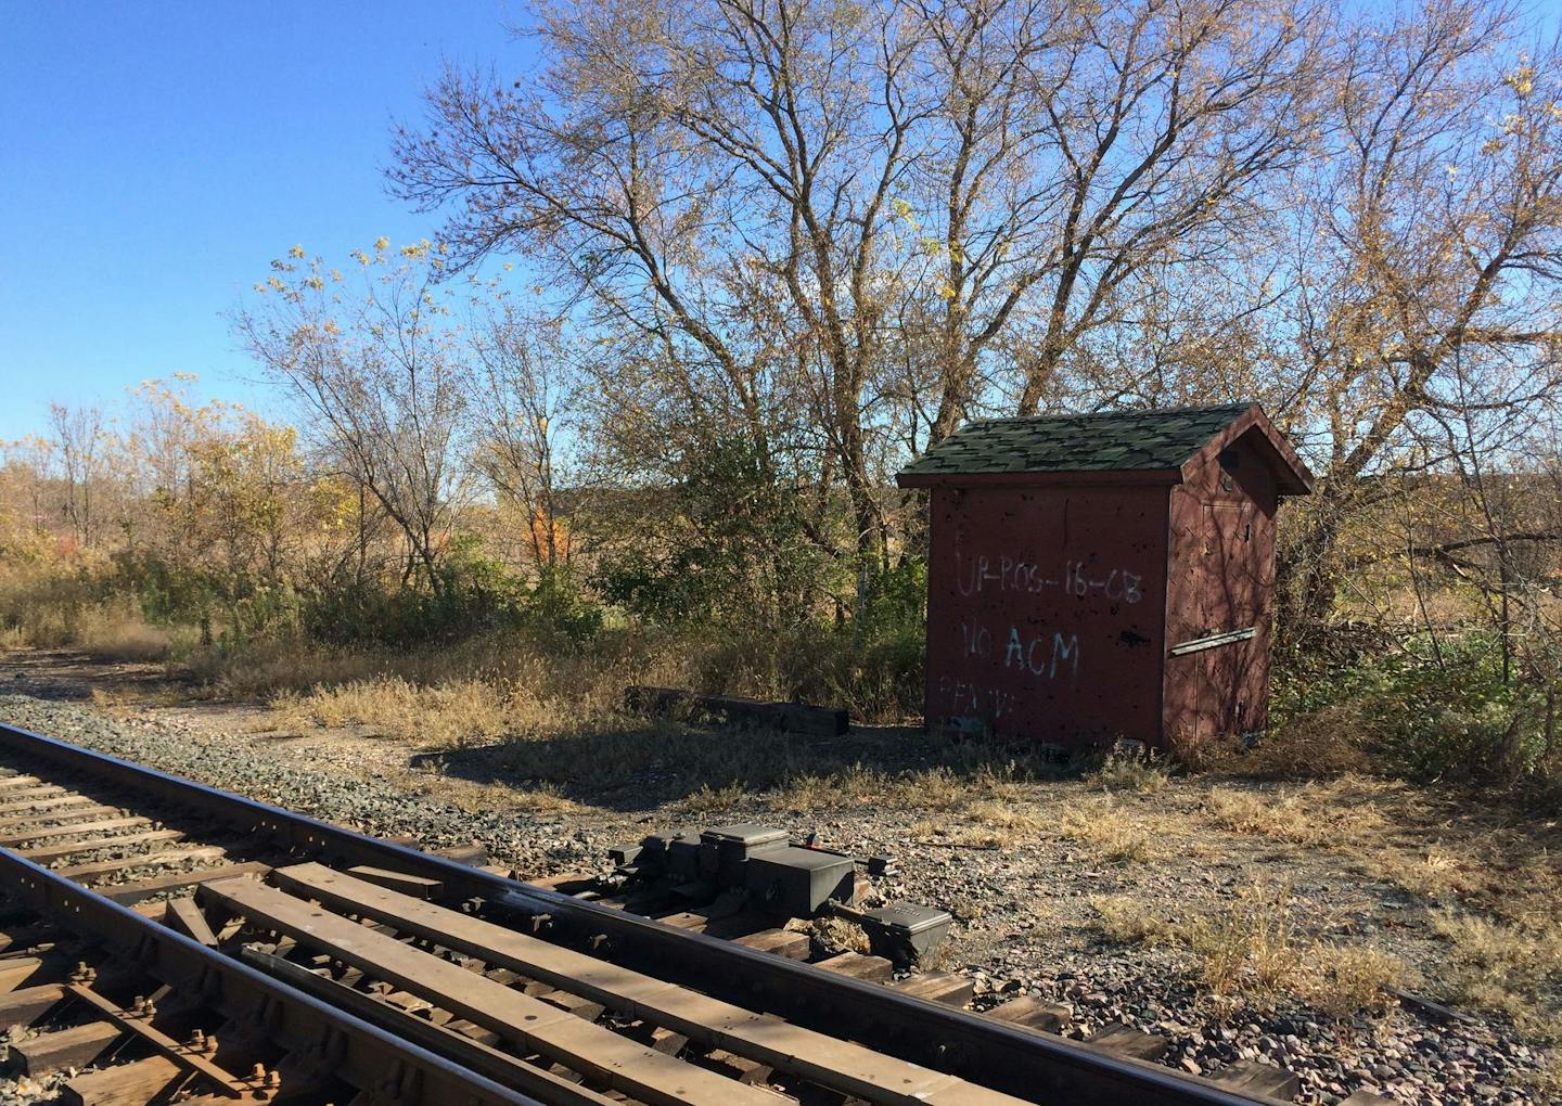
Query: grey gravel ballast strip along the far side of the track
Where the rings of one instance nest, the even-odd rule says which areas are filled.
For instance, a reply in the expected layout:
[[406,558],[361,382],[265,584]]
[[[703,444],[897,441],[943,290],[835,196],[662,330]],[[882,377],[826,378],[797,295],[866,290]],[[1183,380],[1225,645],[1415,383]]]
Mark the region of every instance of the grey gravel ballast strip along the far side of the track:
[[[375,764],[370,758],[361,772],[345,762],[303,764],[276,742],[212,731],[173,712],[125,715],[0,695],[0,719],[366,833],[405,834],[430,847],[476,840],[522,872],[598,870],[608,845],[617,840],[675,822],[714,825],[726,817],[711,812],[673,819],[658,811],[592,811],[580,817],[472,812],[390,783],[384,778],[389,759]],[[753,809],[733,814],[787,825]],[[1286,1004],[1217,1006],[1182,978],[1178,958],[1167,950],[1092,945],[1078,926],[1064,925],[1072,919],[1061,920],[1059,912],[1078,915],[1090,895],[1117,884],[1111,873],[1092,872],[1056,845],[1012,854],[909,845],[904,811],[851,811],[804,826],[790,822],[793,830],[822,830],[833,847],[900,853],[904,873],[886,881],[881,894],[954,911],[948,967],[975,978],[978,1006],[1034,994],[1073,1008],[1073,1036],[1126,1022],[1168,1036],[1173,1045],[1164,1062],[1186,1072],[1209,1073],[1239,1058],[1276,1062],[1303,1076],[1309,1103],[1336,1103],[1357,1089],[1406,1103],[1562,1101],[1528,1089],[1543,1056],[1498,1022],[1471,1017],[1435,1025],[1406,1011],[1334,1022]],[[1228,869],[1242,862],[1228,861]],[[1061,889],[1054,884],[1064,872],[1072,884]],[[1217,894],[1220,887],[1203,884],[1218,878],[1209,872],[1176,876],[1159,894],[1167,909],[1175,909],[1190,894],[1179,884]],[[1326,894],[1326,878],[1314,878],[1320,881],[1317,892]],[[1037,906],[1043,892],[1045,909]],[[0,1106],[34,1100],[17,1084],[0,1081]]]

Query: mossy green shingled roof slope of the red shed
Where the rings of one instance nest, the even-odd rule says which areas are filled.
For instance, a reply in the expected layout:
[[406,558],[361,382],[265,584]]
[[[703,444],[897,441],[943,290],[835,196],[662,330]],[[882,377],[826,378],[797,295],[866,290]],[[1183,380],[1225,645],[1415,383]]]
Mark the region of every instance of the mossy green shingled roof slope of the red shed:
[[1176,469],[1250,406],[984,419],[950,434],[900,475]]

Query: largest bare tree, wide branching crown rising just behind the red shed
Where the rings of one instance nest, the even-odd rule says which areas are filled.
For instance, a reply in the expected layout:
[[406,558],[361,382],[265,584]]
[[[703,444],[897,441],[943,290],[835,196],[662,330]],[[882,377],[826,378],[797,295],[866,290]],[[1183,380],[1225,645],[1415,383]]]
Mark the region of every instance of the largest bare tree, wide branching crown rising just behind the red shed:
[[873,561],[873,437],[1034,411],[1143,264],[1229,241],[1315,130],[1318,31],[1296,0],[545,6],[540,72],[448,72],[392,181],[459,205],[459,261],[533,250],[719,380],[772,470],[801,405]]

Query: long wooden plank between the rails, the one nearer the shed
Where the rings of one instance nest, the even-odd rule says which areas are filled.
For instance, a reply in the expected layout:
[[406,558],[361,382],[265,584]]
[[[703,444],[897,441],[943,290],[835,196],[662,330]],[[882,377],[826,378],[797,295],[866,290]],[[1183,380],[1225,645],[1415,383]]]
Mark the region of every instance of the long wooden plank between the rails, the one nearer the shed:
[[[1020,1101],[469,914],[375,887],[320,864],[276,869],[273,878],[330,909],[390,922],[403,933],[476,956],[486,964],[508,967],[528,979],[542,979],[561,990],[603,1003],[619,1014],[676,1029],[701,1045],[725,1048],[870,1103],[1017,1106]],[[208,886],[201,894],[222,890]],[[470,1014],[458,1012],[478,1022]]]

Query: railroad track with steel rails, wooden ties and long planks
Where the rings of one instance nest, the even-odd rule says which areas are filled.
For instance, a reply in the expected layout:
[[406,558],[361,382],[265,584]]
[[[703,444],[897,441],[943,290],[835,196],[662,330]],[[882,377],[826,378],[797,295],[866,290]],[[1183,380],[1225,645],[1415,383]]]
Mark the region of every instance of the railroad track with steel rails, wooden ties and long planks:
[[1236,1106],[1298,1089],[1248,1064],[1184,1076],[1126,1026],[1068,1040],[1032,1000],[962,1009],[954,976],[886,986],[875,958],[808,964],[779,929],[722,939],[462,859],[484,858],[0,726],[0,1029],[22,1028],[31,1075],[89,1069],[62,1089],[87,1106]]

